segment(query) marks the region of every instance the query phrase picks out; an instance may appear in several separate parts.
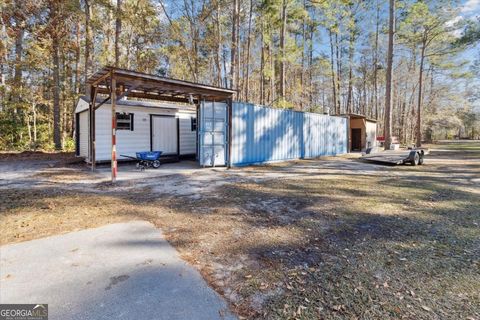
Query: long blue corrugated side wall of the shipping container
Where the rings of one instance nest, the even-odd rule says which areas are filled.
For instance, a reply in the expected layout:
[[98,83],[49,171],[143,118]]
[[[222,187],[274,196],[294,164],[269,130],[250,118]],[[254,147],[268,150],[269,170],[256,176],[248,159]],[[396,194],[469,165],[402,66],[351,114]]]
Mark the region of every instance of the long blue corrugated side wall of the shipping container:
[[346,118],[233,103],[232,165],[346,152]]

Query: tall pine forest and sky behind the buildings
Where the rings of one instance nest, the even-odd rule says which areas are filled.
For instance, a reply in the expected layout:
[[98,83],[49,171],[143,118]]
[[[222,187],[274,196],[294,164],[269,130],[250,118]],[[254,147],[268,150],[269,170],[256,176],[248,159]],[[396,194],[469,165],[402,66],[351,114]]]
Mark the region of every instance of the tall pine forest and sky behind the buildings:
[[[385,119],[392,135],[480,135],[478,1],[2,0],[0,150],[72,150],[104,65],[238,90],[235,100]],[[476,7],[475,7],[476,6]]]

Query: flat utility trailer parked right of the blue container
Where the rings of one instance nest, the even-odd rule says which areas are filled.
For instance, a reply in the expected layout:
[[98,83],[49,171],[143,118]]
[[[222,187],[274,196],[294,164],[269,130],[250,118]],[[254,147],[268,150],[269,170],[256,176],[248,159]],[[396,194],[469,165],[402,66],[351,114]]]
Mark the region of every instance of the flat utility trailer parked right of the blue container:
[[397,150],[380,150],[379,148],[368,148],[360,159],[370,162],[386,164],[411,164],[412,166],[422,165],[425,156],[429,153],[426,148],[409,148]]

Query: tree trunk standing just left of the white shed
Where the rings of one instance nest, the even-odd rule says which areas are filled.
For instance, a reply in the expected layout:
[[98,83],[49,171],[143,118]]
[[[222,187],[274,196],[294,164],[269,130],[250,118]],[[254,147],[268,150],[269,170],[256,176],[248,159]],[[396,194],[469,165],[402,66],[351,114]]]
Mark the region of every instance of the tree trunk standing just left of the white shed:
[[[55,33],[55,32],[54,32]],[[52,39],[53,50],[53,142],[55,149],[62,149],[62,137],[60,135],[60,57],[58,36],[54,34]]]

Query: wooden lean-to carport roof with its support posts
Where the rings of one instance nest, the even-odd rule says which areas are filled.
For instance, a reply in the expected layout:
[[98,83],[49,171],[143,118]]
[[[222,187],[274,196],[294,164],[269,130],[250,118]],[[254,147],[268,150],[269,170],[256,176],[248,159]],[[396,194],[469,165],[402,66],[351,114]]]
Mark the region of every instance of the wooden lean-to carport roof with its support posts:
[[[112,106],[112,182],[117,177],[117,155],[116,155],[116,102],[123,97],[132,97],[149,100],[160,100],[180,103],[195,103],[198,105],[201,100],[224,101],[229,105],[229,121],[232,115],[232,97],[234,90],[219,88],[200,83],[177,80],[167,77],[156,76],[133,70],[120,69],[107,66],[93,74],[86,83],[87,97],[89,103],[90,122],[90,161],[92,170],[95,170],[95,110],[105,103]],[[107,97],[96,103],[97,95]],[[230,126],[229,126],[230,128]],[[231,151],[231,129],[228,133],[228,159]]]

